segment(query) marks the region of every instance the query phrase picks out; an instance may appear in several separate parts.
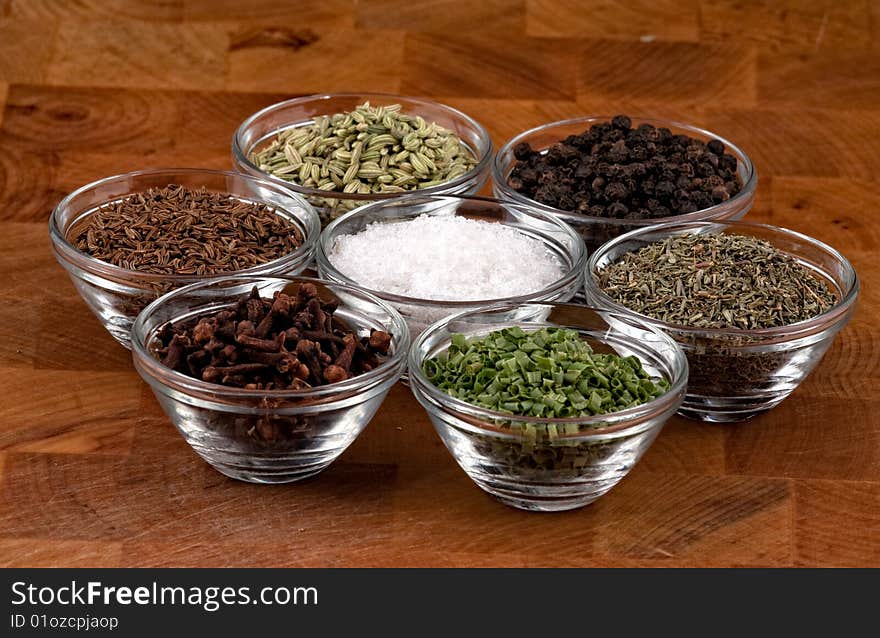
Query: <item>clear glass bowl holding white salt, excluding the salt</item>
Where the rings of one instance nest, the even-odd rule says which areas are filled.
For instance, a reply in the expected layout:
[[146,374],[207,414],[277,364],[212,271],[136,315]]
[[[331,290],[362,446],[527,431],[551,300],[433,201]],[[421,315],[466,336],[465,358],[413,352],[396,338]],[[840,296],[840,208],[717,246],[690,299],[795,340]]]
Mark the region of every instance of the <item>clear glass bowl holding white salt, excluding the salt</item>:
[[[454,215],[481,221],[504,224],[541,241],[559,259],[565,269],[563,276],[543,290],[509,299],[483,299],[478,301],[434,301],[405,297],[381,290],[370,290],[381,299],[391,303],[406,319],[413,335],[419,334],[429,324],[456,312],[500,302],[522,303],[526,301],[569,301],[580,291],[583,272],[578,268],[586,265],[587,254],[583,241],[570,226],[553,215],[480,197],[419,196],[412,195],[386,202],[364,206],[336,219],[318,240],[315,260],[321,277],[331,281],[360,286],[333,266],[329,255],[341,235],[351,235],[364,230],[374,222],[394,223],[414,219],[419,215]],[[511,268],[528,267],[527,264],[511,264]]]

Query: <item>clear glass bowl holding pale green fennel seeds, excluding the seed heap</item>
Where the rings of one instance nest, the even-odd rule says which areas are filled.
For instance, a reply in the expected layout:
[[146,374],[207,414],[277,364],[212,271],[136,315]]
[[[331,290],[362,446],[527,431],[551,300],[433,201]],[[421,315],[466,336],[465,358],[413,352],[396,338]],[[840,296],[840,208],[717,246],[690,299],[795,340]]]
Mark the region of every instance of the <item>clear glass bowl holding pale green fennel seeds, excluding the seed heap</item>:
[[485,128],[471,117],[452,107],[430,100],[384,93],[337,93],[310,95],[273,104],[246,119],[232,138],[232,161],[236,170],[254,175],[283,186],[305,197],[326,225],[340,215],[359,206],[376,201],[405,196],[407,193],[337,193],[305,188],[261,171],[250,161],[250,156],[271,142],[279,133],[291,128],[308,126],[317,115],[333,115],[353,111],[369,101],[373,106],[400,104],[401,110],[411,115],[421,115],[428,122],[436,122],[456,135],[477,159],[473,169],[454,180],[410,193],[473,195],[489,177],[492,158],[492,139]]

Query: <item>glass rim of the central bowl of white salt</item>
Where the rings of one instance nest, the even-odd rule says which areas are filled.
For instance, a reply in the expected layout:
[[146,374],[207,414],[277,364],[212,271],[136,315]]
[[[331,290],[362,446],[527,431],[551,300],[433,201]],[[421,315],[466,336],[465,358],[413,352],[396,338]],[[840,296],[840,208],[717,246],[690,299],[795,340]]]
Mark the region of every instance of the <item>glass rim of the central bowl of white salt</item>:
[[[330,257],[327,251],[324,250],[325,242],[330,240],[330,237],[333,234],[333,231],[340,226],[345,221],[356,217],[358,215],[363,215],[366,213],[370,213],[375,209],[381,208],[383,206],[401,206],[404,203],[412,202],[415,203],[418,200],[427,199],[430,201],[458,201],[458,202],[487,202],[491,204],[497,204],[502,208],[510,208],[513,207],[517,211],[521,213],[526,213],[533,217],[537,217],[542,222],[547,222],[552,224],[558,232],[566,235],[570,241],[571,245],[574,247],[575,258],[573,259],[572,266],[565,270],[565,274],[562,275],[559,279],[555,280],[549,286],[542,288],[541,290],[526,293],[522,295],[517,295],[515,297],[502,297],[497,299],[475,299],[472,301],[458,301],[458,300],[437,300],[437,299],[421,299],[418,297],[407,297],[404,295],[397,295],[394,293],[386,293],[381,290],[375,290],[373,288],[368,288],[363,284],[358,283],[354,279],[348,277],[344,273],[342,273],[339,269],[337,269],[333,263],[330,261]],[[409,219],[415,219],[416,217],[420,217],[421,215],[426,213],[419,213],[418,215],[409,215]],[[387,222],[385,222],[387,223]],[[499,222],[503,223],[503,222]],[[420,193],[408,194],[405,197],[399,197],[394,201],[381,201],[374,202],[372,204],[368,204],[366,206],[361,206],[354,210],[351,210],[343,215],[340,215],[332,222],[330,222],[324,230],[321,232],[321,236],[318,238],[316,250],[315,250],[315,261],[318,264],[319,269],[324,272],[327,272],[331,277],[337,278],[338,281],[346,283],[350,286],[356,286],[362,290],[366,290],[382,299],[387,299],[393,303],[399,303],[402,305],[413,305],[413,306],[427,306],[427,307],[452,307],[452,308],[474,308],[474,306],[489,306],[493,304],[500,303],[522,303],[537,297],[541,297],[545,294],[550,294],[551,292],[564,288],[568,283],[572,281],[578,280],[583,276],[583,268],[587,263],[587,248],[584,244],[583,238],[580,234],[572,228],[570,225],[565,222],[555,218],[553,215],[546,213],[545,211],[534,211],[528,206],[522,206],[520,204],[515,204],[513,202],[506,202],[503,200],[494,199],[492,197],[482,197],[476,195],[422,195]],[[580,272],[578,269],[580,268]],[[580,286],[578,286],[580,287]]]

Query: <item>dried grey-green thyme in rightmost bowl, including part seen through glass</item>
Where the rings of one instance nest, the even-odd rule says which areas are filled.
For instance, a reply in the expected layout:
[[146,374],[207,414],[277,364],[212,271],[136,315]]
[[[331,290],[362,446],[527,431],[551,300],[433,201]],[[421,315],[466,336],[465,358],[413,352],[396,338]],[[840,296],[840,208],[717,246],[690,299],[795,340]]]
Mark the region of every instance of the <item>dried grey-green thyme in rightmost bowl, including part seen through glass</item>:
[[695,415],[744,413],[756,397],[782,396],[802,355],[752,350],[761,338],[747,332],[690,328],[775,328],[810,319],[836,301],[825,281],[787,253],[735,234],[669,237],[624,255],[596,277],[621,305],[683,327],[667,333],[687,355],[684,409]]

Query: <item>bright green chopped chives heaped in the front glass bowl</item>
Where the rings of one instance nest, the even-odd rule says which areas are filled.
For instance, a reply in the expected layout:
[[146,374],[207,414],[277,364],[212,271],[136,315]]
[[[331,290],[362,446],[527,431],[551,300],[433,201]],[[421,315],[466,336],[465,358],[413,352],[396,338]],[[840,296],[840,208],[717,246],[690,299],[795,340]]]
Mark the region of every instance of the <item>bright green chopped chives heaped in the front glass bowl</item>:
[[[423,364],[438,388],[474,405],[541,418],[606,414],[650,401],[669,387],[638,358],[598,354],[577,331],[513,327],[483,337],[452,336]],[[572,426],[577,432],[577,425]]]

